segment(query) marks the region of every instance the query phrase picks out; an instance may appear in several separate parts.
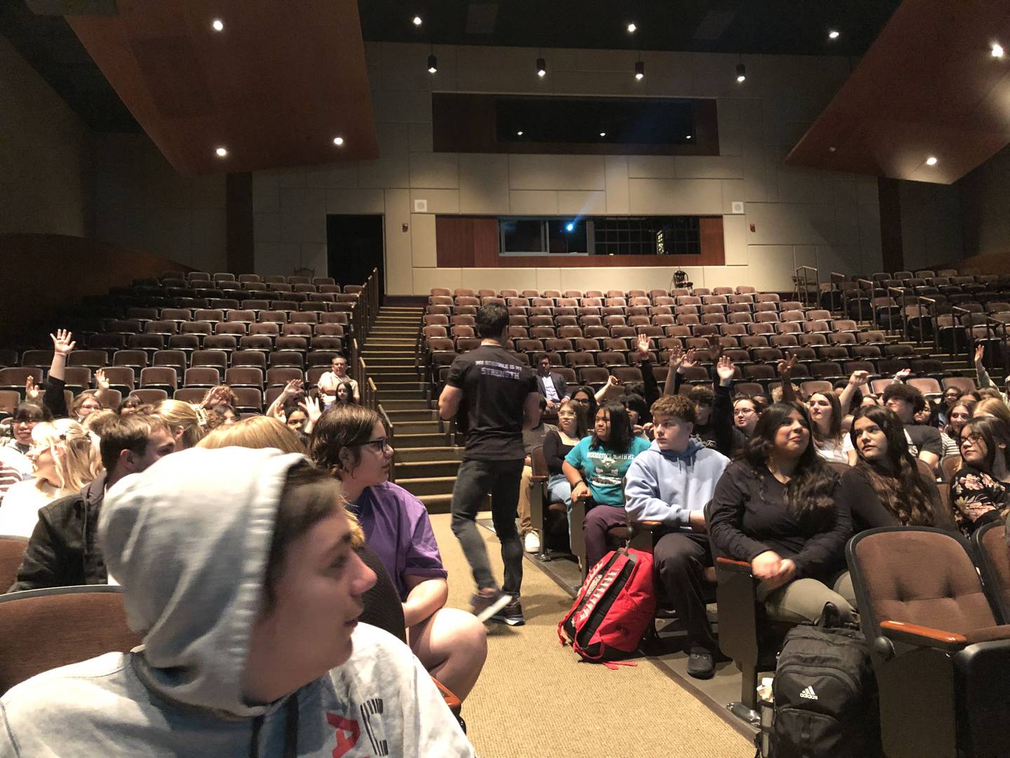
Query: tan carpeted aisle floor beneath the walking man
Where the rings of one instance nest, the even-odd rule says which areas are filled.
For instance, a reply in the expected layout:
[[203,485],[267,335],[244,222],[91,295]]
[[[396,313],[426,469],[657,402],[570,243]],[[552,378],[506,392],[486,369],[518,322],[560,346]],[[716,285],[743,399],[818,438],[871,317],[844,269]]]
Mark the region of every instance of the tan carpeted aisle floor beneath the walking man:
[[[448,604],[469,608],[473,577],[449,516],[433,515],[431,523],[449,572]],[[481,534],[500,580],[498,541],[487,530]],[[488,625],[488,660],[463,706],[482,758],[753,755],[743,737],[647,660],[611,671],[563,648],[558,622],[572,600],[531,562],[523,569],[526,625]]]

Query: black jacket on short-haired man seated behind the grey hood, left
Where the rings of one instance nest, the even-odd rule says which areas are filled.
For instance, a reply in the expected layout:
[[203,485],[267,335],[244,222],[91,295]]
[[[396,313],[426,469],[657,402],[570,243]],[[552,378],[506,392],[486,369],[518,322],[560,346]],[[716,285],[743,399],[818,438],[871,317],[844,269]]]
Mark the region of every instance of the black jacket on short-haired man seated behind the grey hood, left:
[[105,497],[105,476],[76,495],[39,508],[38,524],[25,548],[17,581],[8,592],[108,582],[98,549],[98,511]]

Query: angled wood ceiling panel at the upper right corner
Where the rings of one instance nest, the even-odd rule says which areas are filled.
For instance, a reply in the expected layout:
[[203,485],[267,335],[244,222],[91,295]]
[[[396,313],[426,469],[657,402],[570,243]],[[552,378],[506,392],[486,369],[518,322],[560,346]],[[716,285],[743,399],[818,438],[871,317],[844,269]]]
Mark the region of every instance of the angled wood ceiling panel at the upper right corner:
[[997,41],[1010,51],[1005,0],[904,0],[786,163],[957,181],[1010,144],[1010,53],[994,58]]

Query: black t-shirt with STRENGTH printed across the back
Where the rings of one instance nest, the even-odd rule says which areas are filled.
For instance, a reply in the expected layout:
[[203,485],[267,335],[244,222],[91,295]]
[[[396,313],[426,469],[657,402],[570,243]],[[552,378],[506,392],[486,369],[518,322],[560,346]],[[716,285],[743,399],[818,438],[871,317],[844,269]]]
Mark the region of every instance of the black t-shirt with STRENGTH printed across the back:
[[515,460],[522,445],[523,406],[536,392],[536,375],[498,345],[458,356],[445,383],[463,390],[457,425],[467,436],[466,458]]

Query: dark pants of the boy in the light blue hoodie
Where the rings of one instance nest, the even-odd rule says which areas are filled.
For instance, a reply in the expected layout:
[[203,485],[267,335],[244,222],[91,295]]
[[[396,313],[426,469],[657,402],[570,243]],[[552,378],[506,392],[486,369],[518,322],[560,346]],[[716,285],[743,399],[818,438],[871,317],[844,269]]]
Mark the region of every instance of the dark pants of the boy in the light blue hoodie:
[[674,610],[688,629],[688,648],[718,650],[705,611],[703,571],[713,565],[708,535],[670,532],[652,549],[655,573]]

